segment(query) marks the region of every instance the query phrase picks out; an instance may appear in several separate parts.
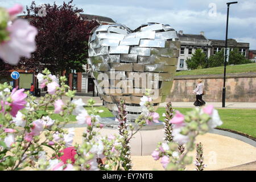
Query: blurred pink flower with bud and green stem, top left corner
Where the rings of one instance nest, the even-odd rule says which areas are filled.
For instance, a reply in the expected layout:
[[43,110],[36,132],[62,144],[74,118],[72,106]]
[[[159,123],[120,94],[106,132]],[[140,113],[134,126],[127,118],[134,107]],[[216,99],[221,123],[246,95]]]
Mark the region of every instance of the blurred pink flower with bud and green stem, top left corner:
[[38,30],[27,20],[16,19],[23,7],[0,7],[0,58],[9,64],[18,64],[20,57],[31,57],[36,50],[35,36]]

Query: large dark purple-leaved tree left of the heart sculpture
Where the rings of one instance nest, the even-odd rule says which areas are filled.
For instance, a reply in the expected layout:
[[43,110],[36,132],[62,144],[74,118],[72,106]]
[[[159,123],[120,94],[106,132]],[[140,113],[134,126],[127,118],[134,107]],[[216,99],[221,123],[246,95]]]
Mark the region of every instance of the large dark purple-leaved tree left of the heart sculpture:
[[77,14],[83,10],[72,5],[72,1],[63,2],[61,6],[54,2],[43,8],[46,15],[42,16],[42,6],[36,6],[34,1],[26,7],[26,18],[38,28],[33,59],[54,74],[62,75],[71,69],[81,72],[82,65],[87,63],[90,31],[98,26],[98,22],[81,19]]

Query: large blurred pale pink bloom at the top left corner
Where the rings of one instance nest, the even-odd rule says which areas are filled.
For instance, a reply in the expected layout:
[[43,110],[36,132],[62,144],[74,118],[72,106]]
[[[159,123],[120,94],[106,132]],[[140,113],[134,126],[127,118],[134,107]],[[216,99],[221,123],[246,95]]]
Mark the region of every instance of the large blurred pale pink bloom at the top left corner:
[[[17,12],[18,8],[10,10]],[[31,57],[31,52],[36,50],[35,36],[38,31],[27,20],[16,19],[7,27],[10,32],[10,40],[0,44],[0,57],[5,63],[16,65],[20,57]]]

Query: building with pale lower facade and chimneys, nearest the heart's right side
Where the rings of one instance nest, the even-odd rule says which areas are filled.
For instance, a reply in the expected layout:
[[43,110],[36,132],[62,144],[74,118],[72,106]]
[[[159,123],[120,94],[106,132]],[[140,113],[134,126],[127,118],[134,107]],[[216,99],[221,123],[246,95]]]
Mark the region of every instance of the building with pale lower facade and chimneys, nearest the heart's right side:
[[183,34],[183,31],[180,30],[178,36],[180,40],[180,56],[177,64],[177,71],[187,70],[185,61],[192,57],[192,54],[196,49],[202,49],[207,57],[210,56],[210,41],[204,36],[203,31],[197,35]]

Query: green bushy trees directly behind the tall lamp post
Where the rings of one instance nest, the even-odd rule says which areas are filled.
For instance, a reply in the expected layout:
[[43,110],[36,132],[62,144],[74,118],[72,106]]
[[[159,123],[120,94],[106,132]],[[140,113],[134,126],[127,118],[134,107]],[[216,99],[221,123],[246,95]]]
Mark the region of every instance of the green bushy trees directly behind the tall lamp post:
[[[253,63],[252,61],[245,58],[245,56],[241,55],[237,48],[234,48],[229,53],[229,60],[227,65],[230,64],[248,64]],[[220,52],[217,52],[216,55],[212,55],[209,57],[209,65],[210,67],[221,67],[224,65],[224,48],[221,49]]]

